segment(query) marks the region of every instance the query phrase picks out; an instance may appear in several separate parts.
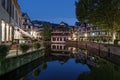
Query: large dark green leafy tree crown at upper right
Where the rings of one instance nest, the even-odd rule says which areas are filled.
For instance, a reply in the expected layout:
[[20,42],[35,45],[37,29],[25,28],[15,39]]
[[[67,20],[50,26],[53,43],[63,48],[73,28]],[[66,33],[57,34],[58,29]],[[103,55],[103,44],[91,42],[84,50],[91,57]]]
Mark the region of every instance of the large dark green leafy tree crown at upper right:
[[79,0],[76,16],[79,21],[85,21],[88,16],[90,23],[114,34],[120,31],[120,0]]

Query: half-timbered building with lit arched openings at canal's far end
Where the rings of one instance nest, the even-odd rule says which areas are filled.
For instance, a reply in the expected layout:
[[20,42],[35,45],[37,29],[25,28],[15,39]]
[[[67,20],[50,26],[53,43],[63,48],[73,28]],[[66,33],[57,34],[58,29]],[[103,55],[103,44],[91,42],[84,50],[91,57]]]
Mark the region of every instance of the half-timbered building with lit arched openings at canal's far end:
[[70,36],[70,27],[66,23],[61,22],[59,25],[53,26],[51,33],[52,43],[65,43]]

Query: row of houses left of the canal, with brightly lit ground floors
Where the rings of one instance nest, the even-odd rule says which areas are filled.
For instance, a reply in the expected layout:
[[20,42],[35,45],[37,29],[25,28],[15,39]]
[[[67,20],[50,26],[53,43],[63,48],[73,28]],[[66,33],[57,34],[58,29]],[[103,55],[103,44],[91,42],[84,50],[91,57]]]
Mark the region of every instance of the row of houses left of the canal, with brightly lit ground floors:
[[28,39],[40,39],[43,21],[31,21],[22,13],[18,0],[0,0],[0,44],[12,44]]

